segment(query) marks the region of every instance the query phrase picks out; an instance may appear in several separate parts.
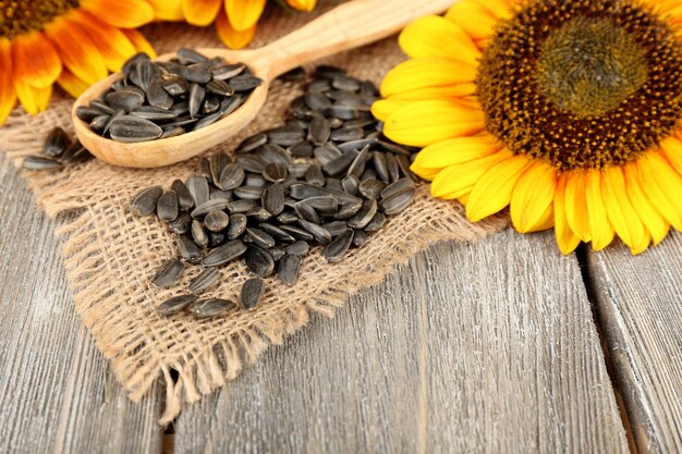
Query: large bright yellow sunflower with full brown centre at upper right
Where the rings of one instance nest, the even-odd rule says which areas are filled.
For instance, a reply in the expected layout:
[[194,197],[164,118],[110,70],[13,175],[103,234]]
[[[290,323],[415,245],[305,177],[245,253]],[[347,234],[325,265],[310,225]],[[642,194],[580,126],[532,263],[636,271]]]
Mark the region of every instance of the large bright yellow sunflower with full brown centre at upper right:
[[462,0],[410,24],[373,106],[471,221],[510,207],[562,253],[682,230],[680,0]]

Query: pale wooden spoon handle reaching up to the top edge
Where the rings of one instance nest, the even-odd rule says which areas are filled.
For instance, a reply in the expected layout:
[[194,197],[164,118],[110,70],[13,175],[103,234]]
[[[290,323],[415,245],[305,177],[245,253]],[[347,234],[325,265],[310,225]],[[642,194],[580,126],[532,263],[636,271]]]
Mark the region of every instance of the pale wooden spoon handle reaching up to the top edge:
[[255,52],[275,78],[304,63],[391,36],[415,19],[442,13],[453,3],[454,0],[353,0]]

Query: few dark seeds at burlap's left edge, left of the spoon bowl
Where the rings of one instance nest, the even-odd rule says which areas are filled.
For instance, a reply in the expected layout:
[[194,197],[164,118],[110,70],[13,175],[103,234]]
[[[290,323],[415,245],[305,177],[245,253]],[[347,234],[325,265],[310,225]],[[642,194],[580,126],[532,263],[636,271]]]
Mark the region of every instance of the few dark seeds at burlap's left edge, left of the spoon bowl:
[[78,140],[72,142],[69,134],[56,127],[48,134],[42,144],[42,155],[27,156],[22,165],[31,170],[61,169],[85,162],[93,158]]

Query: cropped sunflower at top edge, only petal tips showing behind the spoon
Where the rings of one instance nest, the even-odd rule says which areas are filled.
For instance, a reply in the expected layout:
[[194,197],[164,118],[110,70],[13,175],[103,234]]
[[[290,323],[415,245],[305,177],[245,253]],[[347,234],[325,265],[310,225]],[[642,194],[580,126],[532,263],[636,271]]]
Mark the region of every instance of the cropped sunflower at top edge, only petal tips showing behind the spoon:
[[[226,46],[241,49],[256,35],[256,23],[267,0],[154,0],[168,10],[180,11],[185,21],[200,27],[216,23]],[[313,11],[317,0],[287,0],[297,11]]]

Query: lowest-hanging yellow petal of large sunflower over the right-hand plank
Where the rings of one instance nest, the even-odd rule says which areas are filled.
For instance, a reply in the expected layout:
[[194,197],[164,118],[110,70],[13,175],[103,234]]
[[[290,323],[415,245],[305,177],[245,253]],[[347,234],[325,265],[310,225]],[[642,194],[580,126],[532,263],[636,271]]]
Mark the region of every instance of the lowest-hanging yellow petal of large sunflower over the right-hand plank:
[[642,254],[649,246],[650,237],[635,208],[628,197],[623,170],[613,165],[601,174],[601,193],[609,222],[616,233],[630,246],[632,254]]

